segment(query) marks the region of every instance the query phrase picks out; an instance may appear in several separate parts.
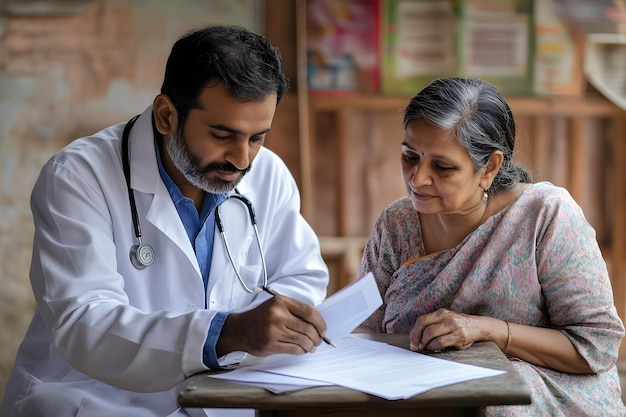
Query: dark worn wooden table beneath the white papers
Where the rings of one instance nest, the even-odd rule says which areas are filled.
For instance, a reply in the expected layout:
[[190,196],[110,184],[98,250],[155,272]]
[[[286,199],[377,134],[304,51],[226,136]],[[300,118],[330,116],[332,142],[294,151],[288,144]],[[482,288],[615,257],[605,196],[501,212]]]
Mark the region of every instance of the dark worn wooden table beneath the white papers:
[[[409,343],[408,336],[403,334],[358,336],[403,348],[408,348]],[[493,342],[475,343],[466,350],[445,350],[432,356],[507,373],[437,388],[408,400],[391,401],[338,386],[276,395],[262,388],[208,378],[211,374],[208,372],[184,381],[178,403],[182,407],[254,408],[261,417],[478,416],[487,405],[530,403],[528,386]]]

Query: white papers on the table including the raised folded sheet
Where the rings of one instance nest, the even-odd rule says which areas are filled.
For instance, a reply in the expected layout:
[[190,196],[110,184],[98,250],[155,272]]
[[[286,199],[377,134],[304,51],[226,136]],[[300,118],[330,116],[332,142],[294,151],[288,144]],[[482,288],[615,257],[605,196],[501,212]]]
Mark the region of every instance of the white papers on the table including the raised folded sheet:
[[276,393],[334,384],[393,400],[504,373],[433,358],[385,343],[345,337],[381,303],[370,273],[318,306],[326,321],[326,336],[337,348],[322,344],[315,353],[306,355],[254,358],[249,366],[244,363],[239,369],[211,377],[261,386]]

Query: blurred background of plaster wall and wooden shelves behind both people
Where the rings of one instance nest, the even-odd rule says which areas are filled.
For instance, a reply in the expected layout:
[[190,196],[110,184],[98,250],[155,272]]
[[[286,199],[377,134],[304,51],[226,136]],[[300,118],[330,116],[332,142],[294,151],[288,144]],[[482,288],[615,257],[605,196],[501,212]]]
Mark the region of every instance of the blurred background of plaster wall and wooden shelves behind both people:
[[298,182],[330,292],[356,278],[376,218],[404,194],[402,108],[430,80],[463,75],[501,89],[518,160],[583,207],[624,318],[625,16],[623,0],[0,0],[0,396],[34,309],[41,166],[141,113],[172,43],[210,23],[281,51],[291,89],[267,146]]

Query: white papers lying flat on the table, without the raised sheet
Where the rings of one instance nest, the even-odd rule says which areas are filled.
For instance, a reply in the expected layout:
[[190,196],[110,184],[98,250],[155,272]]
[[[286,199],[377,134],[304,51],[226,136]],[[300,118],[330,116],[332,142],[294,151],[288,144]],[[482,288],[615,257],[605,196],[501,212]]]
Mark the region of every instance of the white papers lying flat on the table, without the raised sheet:
[[[298,384],[297,378],[301,378],[300,387],[306,384],[316,386],[319,385],[316,381],[321,381],[397,400],[445,385],[504,373],[359,337],[348,337],[339,342],[338,348],[322,345],[312,354],[274,355],[257,365],[212,377],[252,382],[258,386],[264,382],[270,385],[280,382]],[[276,379],[276,376],[285,378]]]

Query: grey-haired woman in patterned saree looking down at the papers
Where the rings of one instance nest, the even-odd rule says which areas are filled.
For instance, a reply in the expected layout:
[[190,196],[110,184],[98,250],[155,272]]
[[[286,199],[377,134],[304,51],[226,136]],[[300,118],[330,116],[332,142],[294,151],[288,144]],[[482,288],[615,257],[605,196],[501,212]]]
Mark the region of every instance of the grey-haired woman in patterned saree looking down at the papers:
[[615,366],[624,326],[606,264],[568,192],[512,160],[505,99],[476,79],[436,80],[404,113],[408,196],[369,237],[383,305],[363,323],[416,351],[493,341],[532,392],[490,416],[624,416]]

